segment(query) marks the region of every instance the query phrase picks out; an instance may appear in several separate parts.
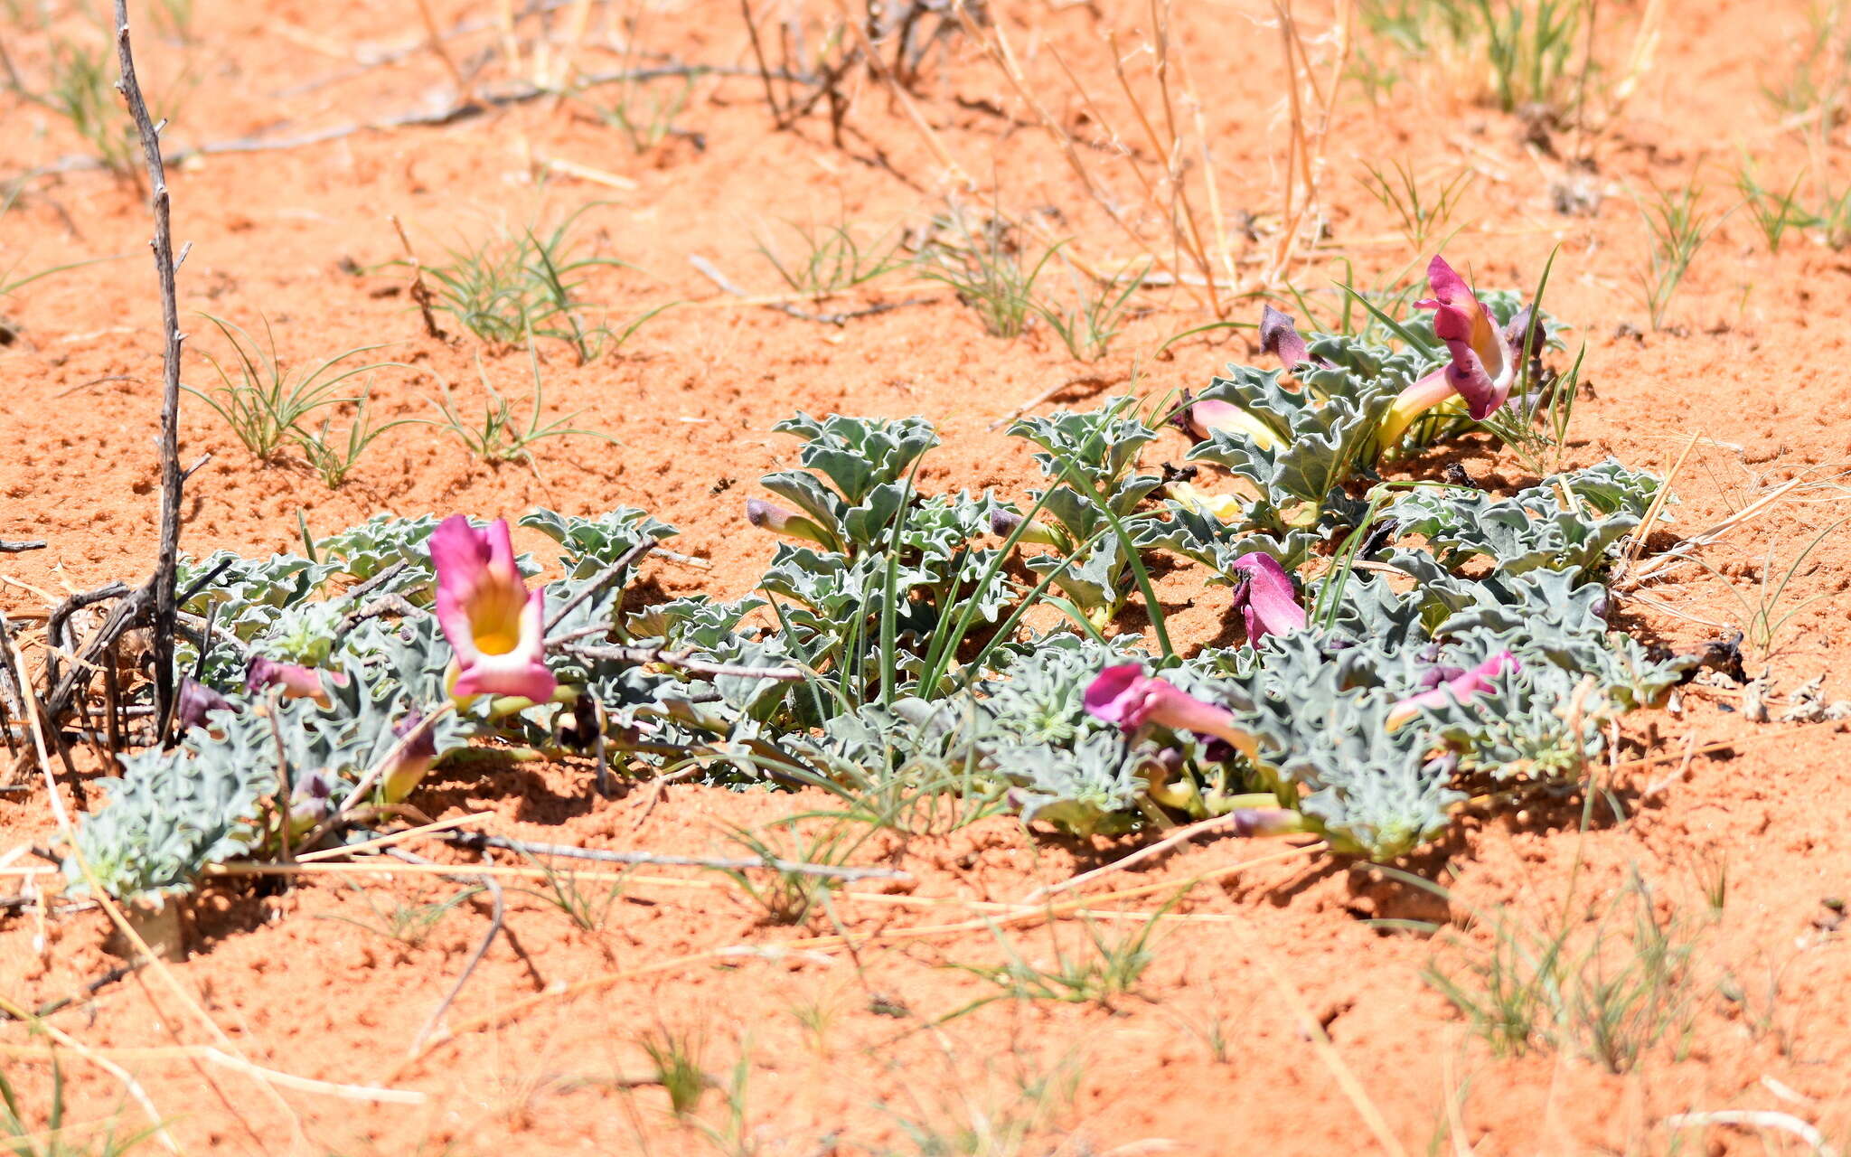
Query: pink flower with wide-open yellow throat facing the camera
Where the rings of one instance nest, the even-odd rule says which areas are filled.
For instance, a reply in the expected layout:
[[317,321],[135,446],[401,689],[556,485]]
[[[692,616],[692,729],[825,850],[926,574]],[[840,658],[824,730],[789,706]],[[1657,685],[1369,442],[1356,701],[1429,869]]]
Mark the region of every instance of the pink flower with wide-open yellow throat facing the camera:
[[505,694],[544,703],[557,687],[546,670],[546,598],[528,591],[515,565],[507,520],[476,529],[463,515],[431,535],[437,622],[457,657],[450,694]]

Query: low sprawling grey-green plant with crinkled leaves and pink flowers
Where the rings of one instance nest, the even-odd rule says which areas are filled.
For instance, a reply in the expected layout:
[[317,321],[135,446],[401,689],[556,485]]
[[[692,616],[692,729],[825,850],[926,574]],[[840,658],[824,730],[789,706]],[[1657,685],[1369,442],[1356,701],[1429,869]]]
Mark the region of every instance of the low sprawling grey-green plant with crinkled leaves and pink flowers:
[[[341,839],[331,816],[402,800],[466,744],[824,787],[844,807],[801,852],[831,863],[853,824],[996,807],[1074,833],[1233,815],[1390,861],[1473,794],[1579,783],[1607,724],[1688,670],[1605,620],[1660,483],[1614,461],[1507,494],[1385,481],[1435,441],[1516,437],[1555,381],[1547,318],[1444,261],[1429,278],[1431,335],[1375,305],[1360,335],[1268,311],[1283,368],[1229,367],[1172,415],[1194,481],[1142,468],[1159,415],[1131,398],[1020,420],[1048,479],[1016,502],[922,492],[926,418],[800,413],[777,426],[796,467],[746,507],[779,541],[740,600],[627,583],[674,535],[627,507],[522,516],[559,544],[537,583],[505,522],[459,516],[189,563],[181,589],[213,576],[183,618],[211,698],[176,748],[131,757],[80,852],[117,894],[185,890]],[[1159,563],[1233,589],[1225,641],[1172,646]],[[1153,652],[1116,633],[1133,603]],[[959,807],[922,803],[944,796]],[[827,885],[759,896],[798,920]]]

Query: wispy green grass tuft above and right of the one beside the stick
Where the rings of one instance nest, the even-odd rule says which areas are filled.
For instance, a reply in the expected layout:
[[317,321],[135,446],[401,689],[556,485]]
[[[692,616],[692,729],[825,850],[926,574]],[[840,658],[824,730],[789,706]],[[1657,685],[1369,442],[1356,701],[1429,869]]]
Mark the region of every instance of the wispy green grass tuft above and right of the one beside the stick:
[[590,207],[572,213],[546,235],[522,230],[474,248],[450,250],[448,261],[426,267],[437,281],[437,309],[496,346],[515,346],[531,337],[563,341],[578,354],[579,365],[624,348],[644,322],[674,302],[613,330],[602,307],[585,300],[587,270],[627,268],[616,257],[581,254],[572,228]]

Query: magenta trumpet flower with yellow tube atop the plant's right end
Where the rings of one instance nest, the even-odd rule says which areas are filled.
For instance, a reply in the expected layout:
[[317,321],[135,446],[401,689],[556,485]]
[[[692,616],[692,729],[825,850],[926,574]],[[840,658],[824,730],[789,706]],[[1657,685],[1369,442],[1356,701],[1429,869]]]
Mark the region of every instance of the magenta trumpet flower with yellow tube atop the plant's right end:
[[1427,289],[1433,296],[1414,302],[1414,305],[1435,311],[1433,333],[1446,342],[1453,357],[1447,365],[1401,391],[1381,426],[1379,444],[1383,448],[1401,441],[1414,418],[1453,394],[1466,400],[1466,413],[1475,422],[1483,422],[1497,413],[1516,383],[1518,352],[1514,342],[1516,335],[1529,326],[1529,317],[1518,315],[1499,330],[1497,320],[1472,292],[1466,280],[1446,263],[1446,257],[1435,257],[1427,265]]

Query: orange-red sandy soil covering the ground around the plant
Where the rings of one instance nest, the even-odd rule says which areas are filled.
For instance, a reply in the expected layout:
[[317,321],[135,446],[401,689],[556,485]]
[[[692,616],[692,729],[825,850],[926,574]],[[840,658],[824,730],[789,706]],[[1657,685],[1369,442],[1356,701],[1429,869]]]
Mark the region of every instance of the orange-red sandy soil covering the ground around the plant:
[[[435,9],[444,28],[492,13],[453,2]],[[1677,535],[1805,479],[1703,552],[1705,565],[1679,566],[1644,592],[1649,598],[1621,607],[1655,637],[1694,642],[1747,622],[1799,552],[1842,516],[1845,491],[1832,479],[1851,457],[1851,385],[1842,372],[1851,265],[1797,235],[1771,255],[1738,211],[1697,255],[1671,304],[1671,328],[1649,331],[1636,287],[1647,239],[1634,193],[1697,174],[1710,207],[1729,207],[1738,148],[1760,157],[1770,187],[1784,189],[1808,165],[1832,167],[1840,180],[1845,172],[1842,130],[1808,156],[1803,133],[1784,130],[1760,94],[1773,72],[1797,61],[1805,4],[1671,9],[1625,106],[1584,135],[1553,139],[1560,156],[1592,156],[1590,176],[1527,141],[1518,118],[1475,104],[1475,68],[1405,61],[1407,80],[1379,104],[1348,89],[1325,150],[1329,237],[1292,276],[1331,302],[1323,287],[1344,276],[1338,257],[1355,263],[1364,285],[1423,261],[1362,191],[1362,159],[1477,174],[1446,252],[1481,285],[1531,285],[1560,246],[1547,305],[1588,342],[1594,385],[1575,415],[1575,463],[1614,454],[1666,472],[1690,448],[1675,478]],[[1642,6],[1599,11],[1599,54],[1612,80],[1633,50]],[[1129,124],[1101,33],[1118,30],[1127,48],[1142,43],[1146,6],[998,6],[998,17],[1038,98],[1064,124],[1087,131],[1088,115],[1053,50],[1116,122]],[[1175,52],[1201,94],[1229,228],[1240,211],[1259,222],[1261,243],[1235,241],[1244,276],[1270,254],[1285,187],[1286,72],[1270,19],[1270,6],[1227,2],[1179,6],[1172,20]],[[1333,13],[1311,6],[1298,19],[1316,35]],[[605,20],[598,6],[589,44],[605,39]],[[94,35],[74,13],[59,28]],[[442,107],[452,85],[429,52],[355,65],[359,48],[415,43],[420,28],[409,0],[202,0],[189,46],[141,33],[137,48],[157,91],[189,74],[168,143],[193,144]],[[531,33],[529,20],[529,48]],[[0,35],[26,78],[43,74],[43,33]],[[750,63],[737,9],[718,2],[648,9],[639,43],[683,61]],[[461,37],[452,54],[470,65],[496,44],[492,33]],[[1329,41],[1314,52],[1327,54]],[[616,61],[585,48],[587,68]],[[1148,65],[1138,68],[1148,78]],[[331,76],[341,80],[304,89]],[[507,61],[489,61],[481,76],[507,81]],[[633,267],[600,270],[598,300],[618,318],[683,302],[589,367],[557,342],[542,344],[550,411],[581,411],[576,426],[618,442],[548,442],[533,468],[489,468],[435,428],[402,426],[329,492],[296,459],[252,461],[215,415],[189,402],[183,461],[207,452],[211,461],[187,489],[185,548],[287,550],[298,541],[298,509],[313,531],[328,533],[374,511],[513,516],[531,505],[592,513],[627,504],[676,524],[676,546],[711,561],[711,570],[652,561],[648,576],[661,589],[739,596],[770,550],[744,528],[744,496],[761,472],[792,465],[790,439],[770,426],[794,409],[926,415],[944,433],[926,485],[1018,494],[1033,465],[1020,442],[992,429],[1018,405],[1038,396],[1048,396],[1038,409],[1090,405],[1125,389],[1155,396],[1248,357],[1240,331],[1190,339],[1157,357],[1164,339],[1212,320],[1181,291],[1144,294],[1151,311],[1098,365],[1068,359],[1044,330],[1012,342],[987,337],[942,287],[909,285],[909,274],[844,302],[927,304],[844,328],[718,294],[690,268],[690,254],[750,292],[774,292],[781,285],[755,235],[787,220],[916,224],[948,193],[979,207],[1051,205],[1088,259],[1133,255],[970,41],[953,39],[933,57],[918,107],[937,146],[981,178],[975,193],[959,193],[877,81],[855,85],[842,148],[831,146],[818,117],[772,131],[757,78],[739,76],[694,87],[679,124],[700,133],[700,146],[670,139],[639,156],[574,104],[537,100],[437,128],[359,131],[178,167],[174,233],[193,244],[180,278],[193,383],[207,381],[204,352],[226,354],[198,317],[213,313],[246,328],[267,317],[280,350],[296,361],[391,342],[378,355],[418,372],[378,376],[381,415],[428,415],[433,374],[476,398],[478,354],[498,389],[526,398],[520,352],[424,335],[404,270],[379,268],[402,255],[389,215],[433,261],[500,224],[550,224],[598,202],[581,218],[583,235]],[[1607,94],[1599,107],[1610,106]],[[7,170],[52,167],[81,148],[68,128],[13,96],[0,96],[0,126]],[[550,157],[627,183],[539,180]],[[1127,204],[1142,204],[1109,150],[1087,157]],[[1551,183],[1570,178],[1607,194],[1596,213],[1555,213]],[[1138,213],[1138,228],[1159,237],[1159,222]],[[0,348],[0,539],[50,541],[48,550],[0,563],[0,607],[28,626],[48,598],[133,579],[152,563],[159,341],[146,231],[137,187],[96,170],[37,176],[0,218],[0,268],[15,259],[17,272],[30,272],[126,255],[0,300],[0,313],[20,326]],[[350,263],[374,272],[344,272]],[[1249,300],[1235,317],[1257,311],[1259,300]],[[1164,441],[1151,457],[1179,461],[1183,450],[1179,439]],[[1481,479],[1523,474],[1485,446],[1457,457]],[[544,542],[524,546],[542,552]],[[1831,533],[1781,594],[1775,615],[1797,613],[1771,653],[1749,653],[1751,670],[1771,668],[1775,690],[1823,674],[1827,700],[1851,698],[1851,679],[1834,663],[1851,629],[1847,561],[1851,535]],[[1199,570],[1172,572],[1159,594],[1179,639],[1222,635],[1225,594],[1203,589]],[[59,1053],[72,1100],[67,1124],[115,1113],[124,1129],[143,1124],[120,1079],[133,1074],[187,1151],[1808,1151],[1779,1129],[1666,1124],[1725,1109],[1790,1114],[1842,1151],[1851,1146],[1851,952],[1827,902],[1851,894],[1851,740],[1829,724],[1753,724],[1734,711],[1738,700],[1727,689],[1696,689],[1677,713],[1629,720],[1618,766],[1601,774],[1607,790],[1588,807],[1571,798],[1514,816],[1472,815],[1442,848],[1403,865],[1444,885],[1449,900],[1366,865],[1218,839],[1092,885],[1090,896],[1140,892],[1096,900],[1090,920],[1044,913],[1011,922],[1009,911],[974,902],[1018,902],[1137,840],[1074,844],[1001,816],[950,835],[870,842],[857,859],[903,868],[911,879],[885,890],[877,881],[851,885],[796,929],[766,924],[737,885],[711,874],[633,877],[594,927],[550,903],[546,881],[509,877],[505,935],[457,996],[448,1027],[415,1046],[487,931],[489,898],[453,905],[428,937],[404,942],[381,931],[394,905],[442,900],[461,885],[405,872],[322,874],[268,894],[209,890],[187,963],[104,987],[44,1026],[78,1042]],[[687,785],[659,798],[637,785],[603,800],[589,779],[583,765],[448,772],[413,802],[433,818],[483,809],[492,818],[476,826],[503,835],[687,853],[727,853],[737,850],[729,826],[763,827],[822,805]],[[0,850],[54,835],[43,790],[0,794]],[[429,842],[416,850],[461,859]],[[1092,935],[1135,935],[1138,913],[1161,909],[1183,881],[1244,859],[1261,863],[1218,874],[1168,909],[1148,972],[1109,1007],[992,1000],[951,1016],[998,994],[963,966],[996,964],[1011,952],[1040,963],[1057,952],[1088,959]],[[33,863],[28,853],[13,866]],[[602,907],[607,883],[578,887]],[[1499,922],[1531,939],[1566,927],[1577,953],[1605,942],[1581,972],[1620,977],[1636,961],[1627,946],[1647,911],[1688,955],[1668,996],[1668,1031],[1623,1074],[1590,1059],[1584,1035],[1499,1055],[1423,977],[1438,968],[1470,985],[1468,966],[1486,959]],[[1379,920],[1442,929],[1423,935]],[[855,937],[851,948],[827,939],[839,931]],[[104,940],[96,911],[0,916],[0,996],[39,1007],[78,992],[117,963]],[[639,1079],[653,1072],[640,1040],[661,1033],[698,1039],[700,1064],[713,1076],[685,1120],[670,1114],[659,1087]],[[0,1026],[0,1072],[41,1126],[52,1072],[33,1051],[43,1044],[26,1026]],[[205,1046],[220,1053],[207,1057]],[[259,1079],[228,1057],[424,1098],[370,1103]],[[94,1135],[78,1144],[89,1140]]]

